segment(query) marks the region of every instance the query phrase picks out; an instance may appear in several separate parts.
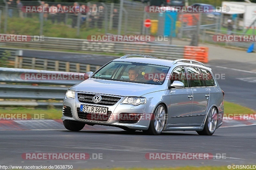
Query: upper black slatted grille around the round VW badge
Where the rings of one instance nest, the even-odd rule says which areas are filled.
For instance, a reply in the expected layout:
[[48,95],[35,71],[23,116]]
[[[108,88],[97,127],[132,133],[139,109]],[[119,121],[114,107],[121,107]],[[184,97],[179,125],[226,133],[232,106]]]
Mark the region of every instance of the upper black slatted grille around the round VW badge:
[[[80,102],[95,104],[92,101],[92,98],[95,95],[96,94],[77,93],[77,98],[78,98],[78,101]],[[112,97],[112,96],[105,96],[105,95],[101,95],[101,98],[102,98],[101,101],[97,104],[105,105],[105,106],[115,105],[121,99],[120,97]]]

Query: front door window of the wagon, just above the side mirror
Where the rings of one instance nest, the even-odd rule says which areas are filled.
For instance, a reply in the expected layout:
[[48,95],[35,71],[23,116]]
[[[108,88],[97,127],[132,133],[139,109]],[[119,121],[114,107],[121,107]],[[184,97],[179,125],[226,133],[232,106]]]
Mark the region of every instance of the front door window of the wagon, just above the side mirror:
[[172,84],[175,80],[181,81],[184,84],[184,87],[188,87],[188,80],[184,67],[178,67],[172,72],[172,75],[170,77],[170,84]]

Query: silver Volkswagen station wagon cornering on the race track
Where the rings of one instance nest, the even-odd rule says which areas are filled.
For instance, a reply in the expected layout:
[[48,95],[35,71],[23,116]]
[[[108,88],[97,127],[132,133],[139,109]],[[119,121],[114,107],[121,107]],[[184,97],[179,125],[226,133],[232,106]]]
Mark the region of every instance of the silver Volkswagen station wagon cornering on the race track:
[[149,135],[194,130],[212,135],[222,125],[224,92],[209,67],[179,59],[124,55],[68,89],[66,129],[106,125]]

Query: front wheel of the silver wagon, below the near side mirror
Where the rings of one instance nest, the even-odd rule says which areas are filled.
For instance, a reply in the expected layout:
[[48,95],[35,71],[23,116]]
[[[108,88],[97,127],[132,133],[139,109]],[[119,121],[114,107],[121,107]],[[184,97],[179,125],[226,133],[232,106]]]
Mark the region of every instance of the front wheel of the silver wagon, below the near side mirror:
[[148,135],[160,135],[167,120],[166,116],[167,113],[164,105],[159,104],[154,111],[154,115],[149,123],[148,130],[144,130],[143,132],[147,133]]

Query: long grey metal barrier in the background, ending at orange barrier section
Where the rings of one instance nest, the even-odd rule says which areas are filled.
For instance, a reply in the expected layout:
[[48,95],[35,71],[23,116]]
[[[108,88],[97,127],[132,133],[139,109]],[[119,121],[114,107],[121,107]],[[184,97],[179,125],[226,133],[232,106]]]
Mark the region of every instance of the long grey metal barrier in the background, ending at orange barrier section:
[[[1,42],[1,46],[22,48],[76,50],[122,54],[146,54],[165,59],[185,58],[185,47],[146,42],[102,42],[84,39],[45,37],[45,41]],[[36,57],[36,56],[35,56]],[[199,61],[199,60],[198,60]],[[202,61],[202,60],[200,60]],[[206,61],[206,60],[205,60]],[[204,62],[204,61],[203,61]]]

